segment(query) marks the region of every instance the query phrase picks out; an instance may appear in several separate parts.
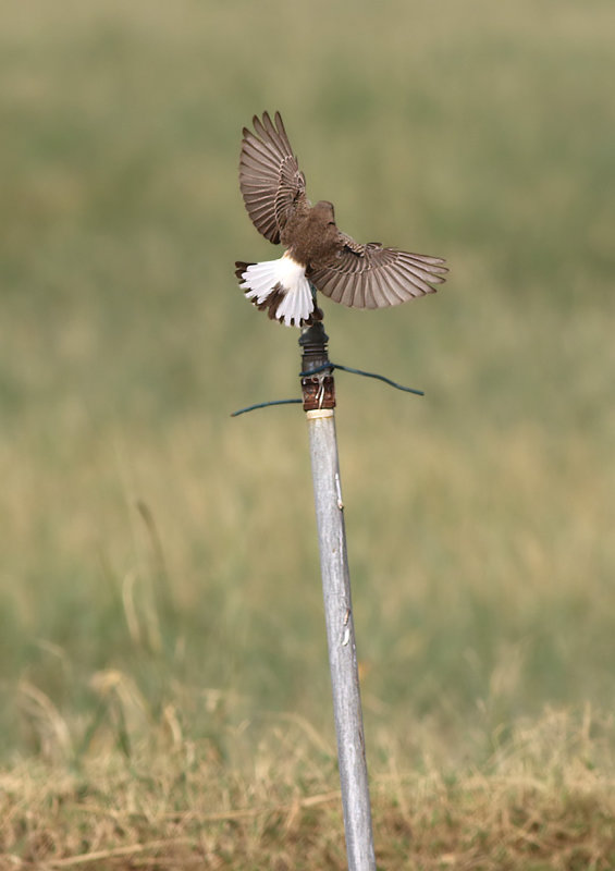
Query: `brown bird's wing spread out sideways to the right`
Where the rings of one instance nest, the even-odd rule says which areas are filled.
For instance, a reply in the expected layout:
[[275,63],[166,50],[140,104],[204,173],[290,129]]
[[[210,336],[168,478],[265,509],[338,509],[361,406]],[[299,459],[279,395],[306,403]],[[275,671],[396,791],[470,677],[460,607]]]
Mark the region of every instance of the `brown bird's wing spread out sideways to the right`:
[[448,270],[440,257],[384,248],[379,242],[360,245],[342,235],[342,250],[308,275],[335,303],[353,308],[396,306],[435,293],[431,285],[445,281]]

